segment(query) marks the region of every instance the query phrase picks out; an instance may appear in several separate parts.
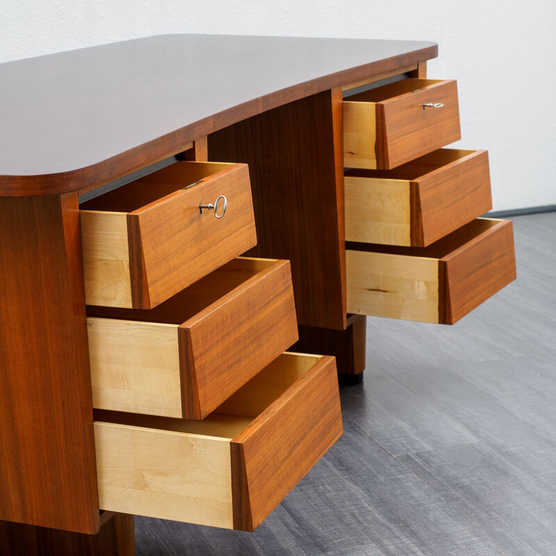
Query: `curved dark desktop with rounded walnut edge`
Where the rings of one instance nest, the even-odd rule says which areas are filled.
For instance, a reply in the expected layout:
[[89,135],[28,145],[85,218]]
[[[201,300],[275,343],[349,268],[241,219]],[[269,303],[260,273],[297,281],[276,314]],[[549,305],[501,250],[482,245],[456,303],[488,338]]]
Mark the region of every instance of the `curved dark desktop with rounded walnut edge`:
[[160,35],[0,64],[0,195],[101,185],[246,117],[435,56],[420,41]]

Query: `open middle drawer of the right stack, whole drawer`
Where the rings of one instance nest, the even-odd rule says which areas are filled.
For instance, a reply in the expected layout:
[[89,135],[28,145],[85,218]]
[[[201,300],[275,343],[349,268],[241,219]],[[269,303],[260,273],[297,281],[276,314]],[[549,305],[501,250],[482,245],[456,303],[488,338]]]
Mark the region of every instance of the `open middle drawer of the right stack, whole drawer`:
[[486,151],[439,149],[344,176],[345,240],[424,247],[492,208]]

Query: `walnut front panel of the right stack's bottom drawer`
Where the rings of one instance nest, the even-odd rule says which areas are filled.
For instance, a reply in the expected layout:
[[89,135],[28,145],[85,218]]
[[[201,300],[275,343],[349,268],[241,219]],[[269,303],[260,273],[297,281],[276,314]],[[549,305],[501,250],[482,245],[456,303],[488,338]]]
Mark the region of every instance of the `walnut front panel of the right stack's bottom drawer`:
[[512,221],[487,222],[491,227],[440,260],[446,287],[439,311],[446,324],[454,324],[516,279]]

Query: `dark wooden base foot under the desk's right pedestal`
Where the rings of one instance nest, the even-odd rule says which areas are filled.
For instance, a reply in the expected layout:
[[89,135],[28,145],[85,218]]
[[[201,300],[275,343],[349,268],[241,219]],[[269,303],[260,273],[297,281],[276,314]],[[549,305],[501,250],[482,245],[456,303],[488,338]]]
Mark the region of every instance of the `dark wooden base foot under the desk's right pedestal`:
[[341,384],[359,384],[365,370],[367,318],[350,315],[345,330],[300,326],[291,351],[334,355]]

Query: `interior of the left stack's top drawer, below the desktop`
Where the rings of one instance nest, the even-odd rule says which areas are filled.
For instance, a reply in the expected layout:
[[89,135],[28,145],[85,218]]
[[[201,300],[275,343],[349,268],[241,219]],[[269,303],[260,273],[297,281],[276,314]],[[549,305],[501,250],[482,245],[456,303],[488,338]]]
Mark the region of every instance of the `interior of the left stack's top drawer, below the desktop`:
[[202,179],[232,165],[223,162],[177,162],[85,201],[79,208],[82,211],[130,213],[177,190],[194,186]]

